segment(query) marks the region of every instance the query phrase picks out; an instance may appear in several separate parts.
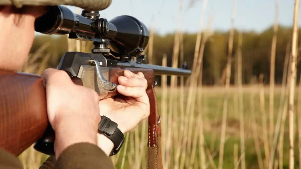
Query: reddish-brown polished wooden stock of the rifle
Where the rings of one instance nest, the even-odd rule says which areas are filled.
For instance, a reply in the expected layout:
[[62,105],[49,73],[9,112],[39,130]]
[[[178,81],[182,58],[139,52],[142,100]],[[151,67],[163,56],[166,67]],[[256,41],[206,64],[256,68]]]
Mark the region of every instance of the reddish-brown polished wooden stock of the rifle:
[[[152,89],[155,76],[152,69],[110,68],[109,81],[118,85],[117,78],[123,75],[125,69],[134,73],[141,71],[147,79],[148,90]],[[81,79],[72,80],[82,85]],[[0,70],[0,90],[0,148],[18,156],[37,140],[53,144],[54,132],[47,125],[43,78],[35,74]],[[115,95],[119,95],[117,90],[105,98]],[[148,92],[148,95],[154,97],[154,93],[151,96]],[[49,151],[53,148],[50,146],[50,149],[44,153],[51,154]]]

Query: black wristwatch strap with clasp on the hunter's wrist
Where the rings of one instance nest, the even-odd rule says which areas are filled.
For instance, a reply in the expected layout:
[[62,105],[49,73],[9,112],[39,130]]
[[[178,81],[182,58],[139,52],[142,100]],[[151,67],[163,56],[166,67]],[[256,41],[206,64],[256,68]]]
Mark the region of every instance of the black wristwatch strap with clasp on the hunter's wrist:
[[124,135],[117,126],[117,123],[104,115],[101,117],[98,124],[98,131],[107,136],[114,144],[113,150],[109,156],[117,154],[124,143]]

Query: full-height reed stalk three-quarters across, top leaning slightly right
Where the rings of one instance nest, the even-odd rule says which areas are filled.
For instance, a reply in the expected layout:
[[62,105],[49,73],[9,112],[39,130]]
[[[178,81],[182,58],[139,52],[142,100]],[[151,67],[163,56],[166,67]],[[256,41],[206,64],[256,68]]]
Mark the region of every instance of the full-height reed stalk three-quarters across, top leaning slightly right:
[[221,138],[220,138],[220,146],[219,146],[219,169],[223,168],[223,160],[224,160],[224,145],[225,145],[225,135],[226,135],[228,99],[229,99],[229,92],[230,92],[229,88],[230,88],[231,60],[232,60],[232,50],[233,50],[235,9],[236,9],[236,0],[233,0],[231,28],[230,28],[230,33],[229,33],[226,85],[225,85],[226,93],[224,96],[222,130],[221,130]]

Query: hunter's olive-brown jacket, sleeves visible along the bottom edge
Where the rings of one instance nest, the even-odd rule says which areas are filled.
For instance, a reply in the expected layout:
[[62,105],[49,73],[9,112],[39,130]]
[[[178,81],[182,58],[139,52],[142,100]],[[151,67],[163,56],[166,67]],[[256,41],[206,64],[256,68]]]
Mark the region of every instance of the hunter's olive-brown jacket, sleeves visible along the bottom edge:
[[[0,150],[0,168],[22,169],[18,158],[12,154]],[[96,145],[90,143],[77,143],[64,150],[55,161],[50,156],[40,169],[114,169],[109,157]]]

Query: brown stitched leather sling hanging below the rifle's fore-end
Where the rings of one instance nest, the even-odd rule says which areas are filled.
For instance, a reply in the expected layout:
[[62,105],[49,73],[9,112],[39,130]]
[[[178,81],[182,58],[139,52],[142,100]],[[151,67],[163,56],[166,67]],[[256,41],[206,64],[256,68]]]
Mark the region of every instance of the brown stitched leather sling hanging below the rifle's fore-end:
[[161,158],[161,125],[158,123],[158,105],[154,86],[146,90],[150,100],[148,118],[147,169],[163,169]]

